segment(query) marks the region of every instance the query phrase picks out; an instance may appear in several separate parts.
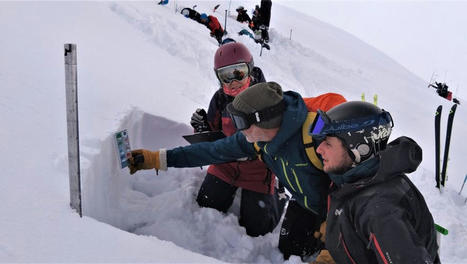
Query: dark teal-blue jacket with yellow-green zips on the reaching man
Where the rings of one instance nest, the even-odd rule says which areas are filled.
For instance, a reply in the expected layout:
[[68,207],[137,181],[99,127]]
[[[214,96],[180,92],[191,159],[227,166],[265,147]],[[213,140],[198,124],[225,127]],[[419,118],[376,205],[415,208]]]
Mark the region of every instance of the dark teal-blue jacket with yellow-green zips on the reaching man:
[[[295,92],[284,93],[286,110],[277,135],[270,142],[258,142],[262,159],[303,208],[324,215],[329,177],[314,167],[305,153],[302,126],[308,109]],[[256,157],[252,143],[237,132],[215,141],[178,147],[167,151],[168,167],[198,167]]]

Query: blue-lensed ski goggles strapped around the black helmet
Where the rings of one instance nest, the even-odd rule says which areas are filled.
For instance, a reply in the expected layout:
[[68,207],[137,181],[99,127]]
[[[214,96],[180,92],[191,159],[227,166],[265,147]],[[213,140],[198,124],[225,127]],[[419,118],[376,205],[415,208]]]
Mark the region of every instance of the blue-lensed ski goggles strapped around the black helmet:
[[391,114],[383,110],[378,115],[370,117],[355,118],[342,121],[334,121],[321,110],[318,110],[318,115],[314,124],[310,127],[310,135],[317,140],[324,140],[327,135],[338,135],[341,133],[360,131],[369,127],[379,127],[387,125],[394,127]]

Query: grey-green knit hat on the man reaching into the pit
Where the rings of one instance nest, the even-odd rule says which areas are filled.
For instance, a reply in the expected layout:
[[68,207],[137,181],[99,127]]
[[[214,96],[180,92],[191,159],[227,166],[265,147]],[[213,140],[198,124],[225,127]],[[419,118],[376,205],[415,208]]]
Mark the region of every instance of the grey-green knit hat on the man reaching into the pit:
[[[251,114],[277,105],[283,99],[281,86],[276,82],[255,84],[238,94],[232,102],[235,110]],[[280,114],[272,119],[262,121],[256,125],[261,128],[277,128],[282,122]]]

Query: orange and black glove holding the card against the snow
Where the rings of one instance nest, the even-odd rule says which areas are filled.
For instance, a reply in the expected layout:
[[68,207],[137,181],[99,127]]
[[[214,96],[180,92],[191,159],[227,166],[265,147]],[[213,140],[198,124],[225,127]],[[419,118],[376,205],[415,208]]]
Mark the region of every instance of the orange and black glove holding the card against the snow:
[[137,149],[131,151],[131,157],[128,159],[130,174],[139,170],[167,170],[167,155],[165,149],[150,151],[146,149]]

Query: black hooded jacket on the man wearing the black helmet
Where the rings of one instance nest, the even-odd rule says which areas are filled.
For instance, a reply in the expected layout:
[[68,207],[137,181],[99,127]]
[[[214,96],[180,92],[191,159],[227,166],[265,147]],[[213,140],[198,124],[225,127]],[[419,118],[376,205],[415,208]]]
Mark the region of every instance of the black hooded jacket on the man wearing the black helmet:
[[378,157],[330,175],[339,184],[330,193],[326,248],[337,263],[439,263],[433,217],[404,174],[421,160],[417,143],[400,137]]

